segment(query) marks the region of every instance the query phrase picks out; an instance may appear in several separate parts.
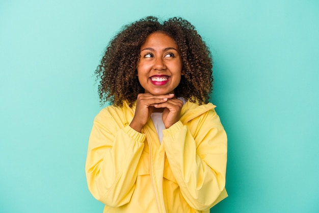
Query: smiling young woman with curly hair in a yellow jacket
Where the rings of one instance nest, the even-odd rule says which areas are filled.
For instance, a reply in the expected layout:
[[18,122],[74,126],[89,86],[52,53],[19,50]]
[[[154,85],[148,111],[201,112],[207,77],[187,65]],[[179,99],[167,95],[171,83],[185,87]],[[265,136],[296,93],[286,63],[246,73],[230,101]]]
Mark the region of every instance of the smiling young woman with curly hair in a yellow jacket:
[[95,72],[86,174],[104,212],[209,212],[227,197],[227,136],[208,102],[212,62],[187,20],[125,26]]

